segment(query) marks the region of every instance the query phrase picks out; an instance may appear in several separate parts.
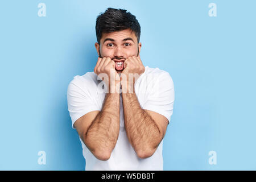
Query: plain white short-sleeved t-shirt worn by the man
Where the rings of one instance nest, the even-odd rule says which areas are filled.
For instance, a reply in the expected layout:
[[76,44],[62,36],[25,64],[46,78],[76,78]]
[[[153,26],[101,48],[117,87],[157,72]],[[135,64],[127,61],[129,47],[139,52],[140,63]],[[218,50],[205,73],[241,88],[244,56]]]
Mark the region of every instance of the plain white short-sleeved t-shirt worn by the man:
[[[88,72],[83,76],[75,76],[70,82],[67,99],[72,127],[75,121],[86,113],[102,109],[106,93],[102,86],[104,82],[98,79],[96,73]],[[134,87],[142,109],[155,111],[170,121],[174,106],[174,82],[168,72],[146,66]],[[146,159],[138,158],[129,143],[123,118],[122,94],[120,94],[119,136],[110,159],[98,160],[81,138],[80,141],[82,154],[86,160],[85,170],[163,170],[163,140],[155,153]]]

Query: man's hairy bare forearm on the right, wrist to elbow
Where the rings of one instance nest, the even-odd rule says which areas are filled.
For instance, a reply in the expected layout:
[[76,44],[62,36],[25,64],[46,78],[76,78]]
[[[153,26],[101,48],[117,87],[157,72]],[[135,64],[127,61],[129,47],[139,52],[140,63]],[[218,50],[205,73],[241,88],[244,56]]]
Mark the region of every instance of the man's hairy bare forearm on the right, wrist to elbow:
[[122,93],[125,128],[129,142],[138,153],[155,151],[160,130],[154,119],[139,105],[135,93]]

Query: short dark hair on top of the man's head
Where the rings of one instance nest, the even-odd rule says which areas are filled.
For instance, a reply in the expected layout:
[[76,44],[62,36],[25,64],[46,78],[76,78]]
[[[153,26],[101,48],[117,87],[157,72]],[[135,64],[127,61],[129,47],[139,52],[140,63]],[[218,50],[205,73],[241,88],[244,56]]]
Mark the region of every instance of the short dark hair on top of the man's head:
[[126,12],[126,10],[113,9],[111,7],[109,7],[105,13],[98,15],[95,28],[98,44],[100,44],[102,33],[121,31],[127,28],[135,32],[138,43],[141,36],[141,26],[136,16]]

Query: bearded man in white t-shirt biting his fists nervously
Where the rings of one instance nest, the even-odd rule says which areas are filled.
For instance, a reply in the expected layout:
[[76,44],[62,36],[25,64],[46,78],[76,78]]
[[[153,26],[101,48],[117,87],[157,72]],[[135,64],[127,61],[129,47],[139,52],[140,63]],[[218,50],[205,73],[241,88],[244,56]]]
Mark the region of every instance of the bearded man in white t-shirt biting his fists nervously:
[[140,34],[138,20],[126,10],[98,15],[94,72],[75,76],[68,86],[85,170],[163,170],[174,83],[168,72],[144,67]]

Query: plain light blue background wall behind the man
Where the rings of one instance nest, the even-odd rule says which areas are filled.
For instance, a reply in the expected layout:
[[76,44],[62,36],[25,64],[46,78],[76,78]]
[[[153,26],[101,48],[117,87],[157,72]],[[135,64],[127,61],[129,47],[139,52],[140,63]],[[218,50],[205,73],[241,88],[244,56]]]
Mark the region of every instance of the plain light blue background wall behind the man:
[[96,17],[108,7],[137,16],[143,64],[174,80],[164,170],[255,170],[256,3],[216,0],[1,1],[0,169],[85,169],[67,87],[93,71]]

